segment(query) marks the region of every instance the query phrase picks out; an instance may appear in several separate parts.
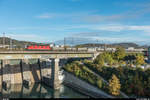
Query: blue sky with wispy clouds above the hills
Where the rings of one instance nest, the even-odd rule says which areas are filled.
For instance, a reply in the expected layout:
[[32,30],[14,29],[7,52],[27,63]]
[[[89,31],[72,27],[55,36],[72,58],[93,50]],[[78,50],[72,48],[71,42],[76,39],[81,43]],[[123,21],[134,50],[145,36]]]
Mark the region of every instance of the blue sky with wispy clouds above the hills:
[[150,0],[0,0],[0,36],[149,43]]

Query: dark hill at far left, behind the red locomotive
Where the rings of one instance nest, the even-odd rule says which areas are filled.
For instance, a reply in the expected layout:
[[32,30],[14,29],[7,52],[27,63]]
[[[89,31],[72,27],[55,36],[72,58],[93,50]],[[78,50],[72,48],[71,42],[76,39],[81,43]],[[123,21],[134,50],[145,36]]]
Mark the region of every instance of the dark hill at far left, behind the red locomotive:
[[[5,45],[10,45],[10,40],[12,41],[12,45],[16,45],[17,47],[25,47],[25,45],[42,45],[45,43],[36,43],[36,42],[29,42],[29,41],[19,41],[15,39],[10,39],[5,37]],[[0,37],[0,44],[3,44],[3,37]]]

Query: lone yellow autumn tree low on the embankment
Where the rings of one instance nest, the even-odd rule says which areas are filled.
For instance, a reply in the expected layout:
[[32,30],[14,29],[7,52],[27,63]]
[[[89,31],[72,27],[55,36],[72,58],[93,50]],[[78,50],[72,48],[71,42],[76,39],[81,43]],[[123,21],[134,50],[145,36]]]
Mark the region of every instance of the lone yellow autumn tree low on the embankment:
[[116,77],[116,75],[112,75],[112,79],[109,80],[109,92],[112,94],[112,95],[119,95],[120,94],[120,88],[121,88],[121,85],[120,85],[120,81],[119,79]]

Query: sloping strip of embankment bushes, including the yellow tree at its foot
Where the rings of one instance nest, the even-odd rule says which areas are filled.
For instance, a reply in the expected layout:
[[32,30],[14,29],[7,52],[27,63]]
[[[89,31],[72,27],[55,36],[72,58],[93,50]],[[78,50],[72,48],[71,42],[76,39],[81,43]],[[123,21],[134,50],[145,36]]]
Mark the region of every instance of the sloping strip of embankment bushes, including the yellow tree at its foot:
[[91,85],[94,85],[106,93],[114,96],[122,97],[120,94],[120,82],[115,75],[112,75],[110,78],[110,85],[106,84],[102,79],[91,72],[84,64],[80,61],[74,61],[70,64],[67,64],[64,67],[64,70],[70,72],[71,74],[79,77],[80,79],[88,82]]

